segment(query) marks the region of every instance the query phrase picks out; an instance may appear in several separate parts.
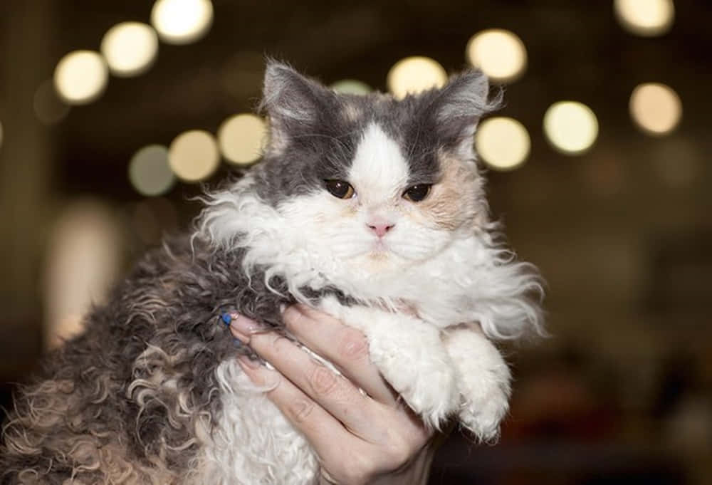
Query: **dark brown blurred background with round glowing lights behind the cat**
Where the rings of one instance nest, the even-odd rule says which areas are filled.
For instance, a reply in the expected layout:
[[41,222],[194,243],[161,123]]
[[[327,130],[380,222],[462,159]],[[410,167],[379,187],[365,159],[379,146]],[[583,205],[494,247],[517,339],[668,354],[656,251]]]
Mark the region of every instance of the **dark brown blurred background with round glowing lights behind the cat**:
[[[548,281],[495,447],[432,484],[712,484],[712,4],[0,3],[0,405],[201,183],[257,162],[267,54],[396,96],[482,68],[495,217]],[[2,414],[0,413],[0,419]]]

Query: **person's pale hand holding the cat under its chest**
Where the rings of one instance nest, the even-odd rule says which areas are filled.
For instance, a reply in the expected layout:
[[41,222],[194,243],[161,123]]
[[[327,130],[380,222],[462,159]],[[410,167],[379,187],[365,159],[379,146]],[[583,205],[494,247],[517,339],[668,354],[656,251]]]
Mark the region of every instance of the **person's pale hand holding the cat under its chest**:
[[275,368],[240,358],[253,382],[273,387],[268,398],[313,447],[320,485],[426,484],[441,434],[426,429],[397,398],[370,362],[364,335],[300,305],[287,308],[283,321],[343,377],[253,320],[240,316],[230,328]]

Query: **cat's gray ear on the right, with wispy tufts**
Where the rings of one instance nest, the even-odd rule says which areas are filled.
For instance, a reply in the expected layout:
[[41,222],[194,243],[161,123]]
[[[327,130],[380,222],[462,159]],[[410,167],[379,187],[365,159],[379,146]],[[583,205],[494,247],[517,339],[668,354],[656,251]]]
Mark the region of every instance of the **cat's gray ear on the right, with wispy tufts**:
[[434,103],[441,140],[462,157],[471,158],[480,118],[499,108],[501,100],[501,90],[489,98],[489,82],[481,71],[465,71],[453,76],[441,88]]

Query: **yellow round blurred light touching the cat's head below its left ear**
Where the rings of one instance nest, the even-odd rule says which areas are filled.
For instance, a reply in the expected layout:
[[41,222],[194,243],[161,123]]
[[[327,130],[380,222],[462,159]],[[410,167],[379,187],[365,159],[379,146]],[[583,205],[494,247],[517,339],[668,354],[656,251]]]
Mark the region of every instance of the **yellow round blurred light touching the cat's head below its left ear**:
[[262,118],[241,114],[226,120],[218,130],[220,151],[229,162],[248,165],[262,155],[267,126]]

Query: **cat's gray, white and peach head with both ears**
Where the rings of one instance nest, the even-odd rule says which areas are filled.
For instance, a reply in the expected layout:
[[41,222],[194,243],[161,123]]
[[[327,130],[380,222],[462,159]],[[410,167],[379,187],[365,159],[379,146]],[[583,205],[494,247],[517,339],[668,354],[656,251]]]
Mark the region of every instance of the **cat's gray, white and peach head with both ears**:
[[294,225],[289,237],[346,269],[432,259],[488,224],[473,155],[478,120],[499,101],[488,90],[466,71],[402,100],[345,95],[271,61],[261,105],[270,132],[251,187]]

